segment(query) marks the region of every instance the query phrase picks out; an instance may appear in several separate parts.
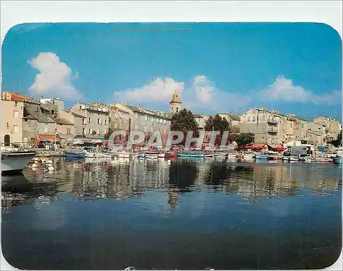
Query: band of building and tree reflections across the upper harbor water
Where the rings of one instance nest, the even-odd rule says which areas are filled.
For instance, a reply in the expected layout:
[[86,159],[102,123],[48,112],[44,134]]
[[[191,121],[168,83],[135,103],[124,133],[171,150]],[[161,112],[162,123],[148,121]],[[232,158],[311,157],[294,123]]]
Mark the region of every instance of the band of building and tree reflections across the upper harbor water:
[[171,209],[180,194],[212,190],[250,201],[298,196],[300,190],[325,194],[342,186],[340,169],[332,164],[228,164],[165,159],[54,159],[54,172],[40,164],[25,177],[3,179],[3,210],[32,198],[69,193],[83,200],[141,198],[150,190],[167,192]]

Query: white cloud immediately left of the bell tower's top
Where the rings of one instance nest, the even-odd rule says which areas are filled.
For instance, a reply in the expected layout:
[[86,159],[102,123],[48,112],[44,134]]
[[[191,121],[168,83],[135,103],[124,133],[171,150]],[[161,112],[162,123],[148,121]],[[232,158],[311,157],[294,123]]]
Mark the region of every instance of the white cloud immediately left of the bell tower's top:
[[151,83],[148,83],[141,88],[133,88],[115,92],[115,101],[128,101],[128,103],[167,103],[170,101],[171,96],[173,96],[175,90],[178,90],[180,96],[182,96],[184,85],[185,83],[176,82],[174,79],[171,79],[169,77],[165,77],[165,79],[158,77]]

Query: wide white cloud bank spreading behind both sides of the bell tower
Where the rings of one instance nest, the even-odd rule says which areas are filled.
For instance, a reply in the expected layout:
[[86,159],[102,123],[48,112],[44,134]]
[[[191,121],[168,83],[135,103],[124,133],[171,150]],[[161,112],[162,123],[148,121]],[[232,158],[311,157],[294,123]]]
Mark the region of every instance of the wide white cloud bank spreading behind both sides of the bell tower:
[[215,83],[211,82],[204,75],[194,77],[190,88],[186,88],[184,82],[177,82],[174,79],[158,77],[151,83],[141,87],[114,92],[115,101],[128,101],[128,103],[141,103],[159,109],[169,107],[169,101],[178,90],[182,107],[191,109],[194,112],[228,112],[239,110],[250,104],[250,98],[244,94],[224,92],[218,90]]

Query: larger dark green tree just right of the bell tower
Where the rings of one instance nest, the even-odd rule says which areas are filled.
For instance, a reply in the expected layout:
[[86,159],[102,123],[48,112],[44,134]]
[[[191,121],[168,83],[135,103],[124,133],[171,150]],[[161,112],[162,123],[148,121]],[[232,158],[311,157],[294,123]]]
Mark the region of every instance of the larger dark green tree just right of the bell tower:
[[175,113],[171,117],[171,131],[182,131],[184,134],[184,139],[180,144],[185,144],[186,136],[188,131],[193,131],[193,137],[198,136],[198,122],[194,118],[192,112],[187,109],[182,109],[180,112]]

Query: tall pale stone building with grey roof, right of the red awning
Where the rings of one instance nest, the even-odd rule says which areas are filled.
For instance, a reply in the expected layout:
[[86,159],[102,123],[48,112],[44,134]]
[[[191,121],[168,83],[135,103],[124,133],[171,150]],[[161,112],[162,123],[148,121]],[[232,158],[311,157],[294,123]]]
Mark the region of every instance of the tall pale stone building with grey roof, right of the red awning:
[[82,118],[82,135],[84,138],[104,138],[108,133],[109,110],[96,104],[77,103],[69,108],[85,118]]

